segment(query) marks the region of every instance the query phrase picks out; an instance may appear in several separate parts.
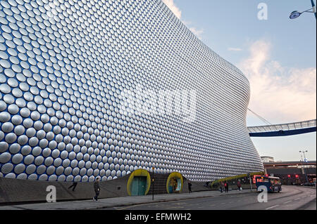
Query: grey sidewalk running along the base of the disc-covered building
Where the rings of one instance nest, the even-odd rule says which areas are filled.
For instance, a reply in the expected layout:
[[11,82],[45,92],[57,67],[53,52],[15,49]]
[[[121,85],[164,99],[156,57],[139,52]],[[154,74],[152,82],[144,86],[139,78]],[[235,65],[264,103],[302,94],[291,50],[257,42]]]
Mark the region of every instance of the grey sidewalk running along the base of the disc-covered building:
[[[255,190],[253,190],[255,192]],[[202,197],[221,197],[223,195],[238,195],[251,193],[248,190],[231,190],[228,193],[220,193],[218,190],[192,192],[184,194],[166,194],[166,195],[152,195],[133,196],[133,197],[113,197],[106,199],[99,199],[98,202],[91,200],[73,201],[73,202],[56,202],[56,203],[39,203],[39,204],[19,204],[0,206],[0,210],[88,210],[88,209],[106,209],[120,206],[132,206],[137,204],[149,204],[154,202],[172,202],[185,199],[195,199]]]

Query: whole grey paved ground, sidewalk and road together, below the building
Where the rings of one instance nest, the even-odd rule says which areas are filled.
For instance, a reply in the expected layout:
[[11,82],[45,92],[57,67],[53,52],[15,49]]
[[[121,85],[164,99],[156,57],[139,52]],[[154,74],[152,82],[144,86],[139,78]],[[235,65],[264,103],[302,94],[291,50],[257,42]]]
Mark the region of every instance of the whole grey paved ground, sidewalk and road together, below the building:
[[[137,197],[116,197],[75,202],[20,204],[0,206],[0,210],[273,210],[313,209],[316,210],[316,188],[282,186],[282,192],[268,194],[268,202],[259,203],[259,193],[250,190],[192,192],[191,194],[151,195]],[[315,200],[315,201],[313,201]]]

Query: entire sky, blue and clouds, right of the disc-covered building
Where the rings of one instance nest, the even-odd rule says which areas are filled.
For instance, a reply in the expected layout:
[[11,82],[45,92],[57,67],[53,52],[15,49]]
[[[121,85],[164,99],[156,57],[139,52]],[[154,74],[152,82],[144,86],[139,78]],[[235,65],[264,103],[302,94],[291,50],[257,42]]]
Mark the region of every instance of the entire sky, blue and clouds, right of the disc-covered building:
[[[271,124],[316,119],[316,18],[292,11],[309,0],[163,0],[207,46],[236,65],[249,79],[249,109]],[[316,3],[316,1],[315,1]],[[252,113],[247,126],[265,125]],[[261,156],[299,160],[308,150],[316,160],[316,132],[251,138]]]

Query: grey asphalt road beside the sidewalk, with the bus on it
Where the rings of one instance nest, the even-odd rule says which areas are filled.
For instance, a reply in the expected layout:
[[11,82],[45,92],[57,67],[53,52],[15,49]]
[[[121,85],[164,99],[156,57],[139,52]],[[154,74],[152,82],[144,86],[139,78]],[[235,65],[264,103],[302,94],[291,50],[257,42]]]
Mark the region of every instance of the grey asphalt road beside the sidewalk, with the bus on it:
[[268,202],[258,202],[259,193],[225,195],[200,199],[185,199],[175,202],[159,202],[122,206],[115,210],[316,210],[316,188],[282,186],[282,192],[269,193]]

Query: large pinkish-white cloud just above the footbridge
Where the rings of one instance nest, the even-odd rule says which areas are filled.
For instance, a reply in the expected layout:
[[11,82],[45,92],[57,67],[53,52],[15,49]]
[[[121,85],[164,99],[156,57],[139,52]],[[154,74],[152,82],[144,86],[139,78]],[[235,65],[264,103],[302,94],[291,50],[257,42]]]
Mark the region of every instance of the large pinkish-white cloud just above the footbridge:
[[249,108],[271,123],[315,119],[316,67],[283,67],[271,60],[271,49],[268,41],[256,41],[240,63],[251,86]]

